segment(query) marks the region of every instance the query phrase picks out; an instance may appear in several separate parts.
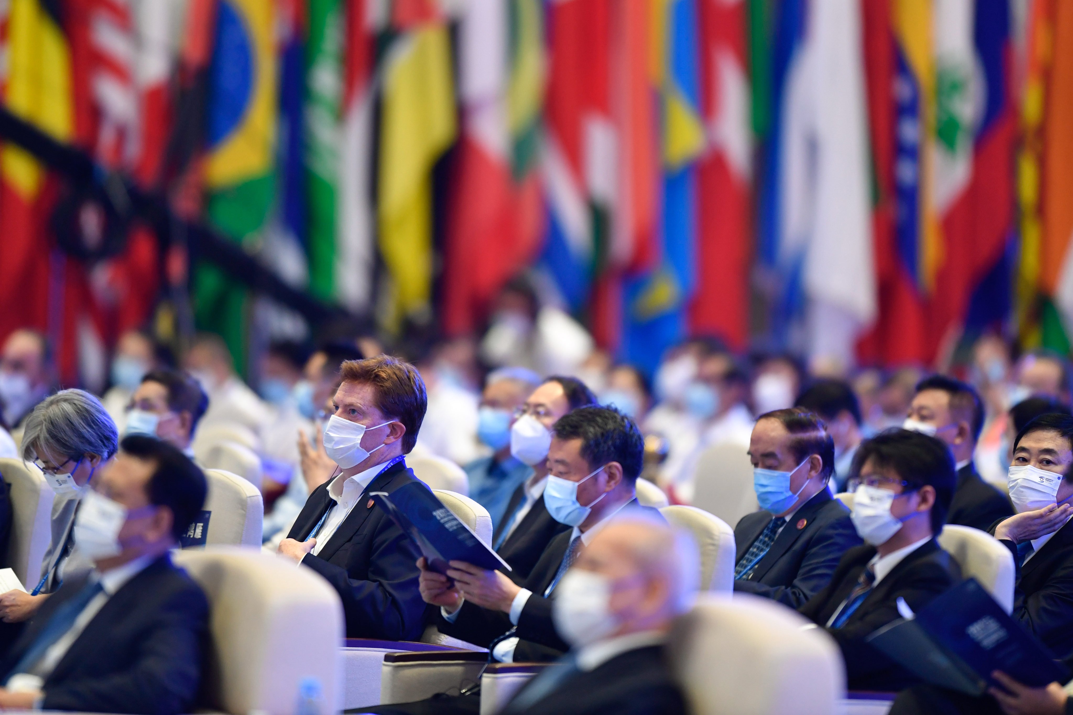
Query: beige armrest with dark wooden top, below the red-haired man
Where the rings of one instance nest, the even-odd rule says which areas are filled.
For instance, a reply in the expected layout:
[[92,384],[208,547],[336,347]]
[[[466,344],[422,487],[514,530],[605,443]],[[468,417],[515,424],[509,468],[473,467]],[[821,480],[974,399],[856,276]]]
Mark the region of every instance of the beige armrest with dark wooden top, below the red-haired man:
[[487,662],[487,653],[457,649],[387,653],[380,671],[380,703],[391,705],[424,700],[437,692],[457,692],[475,684]]

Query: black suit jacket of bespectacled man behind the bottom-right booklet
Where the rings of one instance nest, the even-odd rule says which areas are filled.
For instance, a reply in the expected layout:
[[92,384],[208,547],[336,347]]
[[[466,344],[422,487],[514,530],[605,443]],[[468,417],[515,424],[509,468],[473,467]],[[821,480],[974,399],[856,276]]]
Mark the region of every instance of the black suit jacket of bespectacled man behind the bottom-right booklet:
[[[799,609],[802,614],[825,627],[856,587],[857,579],[874,555],[876,547],[872,546],[850,549],[838,563],[827,587]],[[905,598],[916,611],[960,580],[961,569],[957,562],[931,539],[902,558],[841,628],[827,628],[842,651],[848,687],[851,690],[895,691],[918,683],[912,673],[866,643],[865,637],[900,617],[898,597]]]

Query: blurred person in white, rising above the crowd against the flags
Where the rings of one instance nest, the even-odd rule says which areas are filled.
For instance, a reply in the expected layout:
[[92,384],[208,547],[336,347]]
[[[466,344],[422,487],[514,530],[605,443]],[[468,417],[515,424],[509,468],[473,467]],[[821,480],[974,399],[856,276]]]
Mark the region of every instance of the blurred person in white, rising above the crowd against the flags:
[[480,355],[496,368],[529,368],[538,374],[573,374],[594,343],[577,321],[559,308],[541,307],[529,279],[517,277],[503,287],[493,311]]

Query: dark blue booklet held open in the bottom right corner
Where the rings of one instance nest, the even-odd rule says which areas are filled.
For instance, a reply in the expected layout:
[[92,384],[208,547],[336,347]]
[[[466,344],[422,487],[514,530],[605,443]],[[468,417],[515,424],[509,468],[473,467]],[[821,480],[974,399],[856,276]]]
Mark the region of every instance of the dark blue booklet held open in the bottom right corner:
[[973,696],[997,685],[996,670],[1031,687],[1070,679],[1069,670],[975,579],[865,640],[923,681]]

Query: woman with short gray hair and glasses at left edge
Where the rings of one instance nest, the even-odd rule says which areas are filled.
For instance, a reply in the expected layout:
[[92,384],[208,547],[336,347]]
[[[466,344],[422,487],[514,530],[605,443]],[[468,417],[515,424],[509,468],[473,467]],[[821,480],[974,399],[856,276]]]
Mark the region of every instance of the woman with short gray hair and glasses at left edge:
[[[119,449],[119,432],[104,405],[85,390],[60,390],[45,398],[26,418],[23,460],[33,462],[56,493],[53,502],[53,540],[42,563],[41,581],[27,594],[0,595],[0,619],[18,623],[32,616],[44,599],[82,564],[72,526],[82,495],[100,470]],[[33,584],[26,584],[29,589]]]

